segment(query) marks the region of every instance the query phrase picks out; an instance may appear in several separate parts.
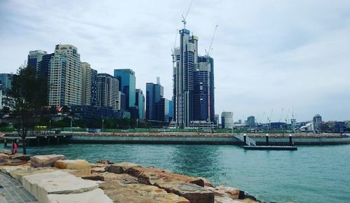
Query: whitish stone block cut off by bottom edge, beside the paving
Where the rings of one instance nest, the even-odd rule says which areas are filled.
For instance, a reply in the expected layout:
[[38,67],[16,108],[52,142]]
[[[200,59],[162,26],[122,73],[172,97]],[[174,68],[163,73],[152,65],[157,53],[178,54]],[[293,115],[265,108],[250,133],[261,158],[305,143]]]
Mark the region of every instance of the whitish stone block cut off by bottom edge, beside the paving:
[[55,203],[113,203],[113,201],[104,194],[104,191],[101,189],[94,189],[86,193],[79,194],[69,194],[69,195],[48,195],[49,202]]

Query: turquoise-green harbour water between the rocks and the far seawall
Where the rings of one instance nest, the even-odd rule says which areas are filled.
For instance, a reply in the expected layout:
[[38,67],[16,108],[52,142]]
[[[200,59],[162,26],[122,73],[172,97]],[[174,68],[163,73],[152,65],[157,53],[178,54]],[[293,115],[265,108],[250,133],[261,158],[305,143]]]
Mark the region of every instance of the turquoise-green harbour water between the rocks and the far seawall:
[[28,153],[170,169],[246,190],[267,202],[350,202],[350,145],[244,151],[239,146],[66,144],[30,147]]

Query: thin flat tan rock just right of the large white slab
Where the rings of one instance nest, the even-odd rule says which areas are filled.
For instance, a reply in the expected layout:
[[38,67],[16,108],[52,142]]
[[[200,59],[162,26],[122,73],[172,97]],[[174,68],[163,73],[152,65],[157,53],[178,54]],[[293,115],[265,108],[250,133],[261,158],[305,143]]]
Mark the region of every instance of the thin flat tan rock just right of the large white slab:
[[137,178],[134,176],[130,176],[129,174],[113,174],[113,173],[101,173],[101,174],[90,174],[87,176],[82,176],[82,179],[88,179],[92,181],[104,181],[104,182],[111,182],[111,181],[119,181],[123,184],[131,184],[131,183],[139,183],[137,181]]

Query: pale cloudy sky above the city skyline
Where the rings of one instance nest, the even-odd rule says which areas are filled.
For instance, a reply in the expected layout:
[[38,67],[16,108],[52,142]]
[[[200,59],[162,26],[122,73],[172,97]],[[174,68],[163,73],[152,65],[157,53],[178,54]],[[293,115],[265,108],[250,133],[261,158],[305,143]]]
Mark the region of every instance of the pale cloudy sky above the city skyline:
[[[29,50],[71,44],[100,73],[133,69],[144,92],[160,77],[171,99],[172,48],[189,5],[0,0],[0,72],[15,73]],[[211,52],[216,114],[262,123],[315,114],[350,120],[349,0],[195,0],[186,21],[200,38],[200,55],[218,25]]]

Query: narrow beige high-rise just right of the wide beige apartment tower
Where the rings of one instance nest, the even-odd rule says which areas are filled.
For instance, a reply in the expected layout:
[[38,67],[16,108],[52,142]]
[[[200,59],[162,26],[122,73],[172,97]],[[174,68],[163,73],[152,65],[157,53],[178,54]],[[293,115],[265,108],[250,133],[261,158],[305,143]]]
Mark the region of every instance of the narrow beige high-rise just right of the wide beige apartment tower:
[[81,68],[83,72],[82,88],[81,88],[81,104],[91,105],[91,74],[92,69],[89,63],[82,62]]

